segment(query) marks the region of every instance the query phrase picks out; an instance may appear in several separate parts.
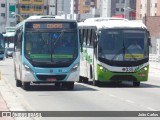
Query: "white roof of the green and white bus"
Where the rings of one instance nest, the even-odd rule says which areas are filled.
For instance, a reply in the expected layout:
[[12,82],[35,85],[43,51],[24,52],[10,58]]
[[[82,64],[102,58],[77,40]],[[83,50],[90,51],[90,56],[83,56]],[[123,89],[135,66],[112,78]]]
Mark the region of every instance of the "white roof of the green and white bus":
[[107,28],[143,28],[146,26],[143,23],[123,19],[123,18],[89,18],[84,22],[78,23],[79,27],[96,27],[97,29]]

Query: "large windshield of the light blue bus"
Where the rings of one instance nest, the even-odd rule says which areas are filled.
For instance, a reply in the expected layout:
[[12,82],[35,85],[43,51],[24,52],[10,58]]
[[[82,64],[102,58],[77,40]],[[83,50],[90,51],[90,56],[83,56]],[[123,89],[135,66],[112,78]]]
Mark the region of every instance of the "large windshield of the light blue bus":
[[76,31],[33,32],[25,34],[25,57],[38,63],[71,63],[77,57]]

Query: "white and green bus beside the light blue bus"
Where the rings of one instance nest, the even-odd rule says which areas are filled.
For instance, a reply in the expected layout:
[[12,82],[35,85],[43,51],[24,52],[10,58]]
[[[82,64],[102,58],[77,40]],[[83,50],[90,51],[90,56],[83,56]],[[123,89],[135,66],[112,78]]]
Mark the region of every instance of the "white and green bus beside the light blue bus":
[[116,18],[92,18],[78,23],[81,39],[80,81],[148,80],[150,35],[143,23]]

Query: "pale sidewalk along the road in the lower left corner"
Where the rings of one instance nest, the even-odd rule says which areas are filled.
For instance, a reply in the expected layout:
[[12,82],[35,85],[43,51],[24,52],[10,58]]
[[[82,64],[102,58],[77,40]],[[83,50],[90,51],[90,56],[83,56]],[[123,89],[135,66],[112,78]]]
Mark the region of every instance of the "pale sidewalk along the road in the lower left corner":
[[[0,71],[1,72],[1,71]],[[29,117],[10,117],[3,116],[2,112],[11,111],[27,111],[26,106],[22,104],[22,96],[20,96],[11,86],[7,80],[0,76],[0,120],[36,120],[36,118]]]

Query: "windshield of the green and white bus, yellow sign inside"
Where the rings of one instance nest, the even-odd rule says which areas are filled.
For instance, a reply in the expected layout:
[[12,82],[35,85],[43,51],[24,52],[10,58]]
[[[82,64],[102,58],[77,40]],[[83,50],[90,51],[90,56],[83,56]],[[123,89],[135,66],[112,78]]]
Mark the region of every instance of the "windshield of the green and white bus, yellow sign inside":
[[148,57],[145,30],[103,29],[99,34],[99,57],[114,61],[135,61]]

